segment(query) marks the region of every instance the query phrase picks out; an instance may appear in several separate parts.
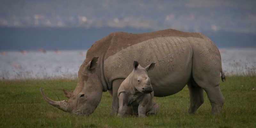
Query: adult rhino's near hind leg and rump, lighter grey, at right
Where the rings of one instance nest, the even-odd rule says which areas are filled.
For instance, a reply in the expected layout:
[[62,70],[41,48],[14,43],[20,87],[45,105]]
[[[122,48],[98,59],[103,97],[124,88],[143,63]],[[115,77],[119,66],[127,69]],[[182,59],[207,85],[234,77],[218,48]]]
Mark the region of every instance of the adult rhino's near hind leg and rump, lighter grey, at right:
[[212,114],[219,114],[224,104],[220,92],[221,58],[218,48],[206,36],[193,38],[192,76],[196,84],[203,88],[212,105]]

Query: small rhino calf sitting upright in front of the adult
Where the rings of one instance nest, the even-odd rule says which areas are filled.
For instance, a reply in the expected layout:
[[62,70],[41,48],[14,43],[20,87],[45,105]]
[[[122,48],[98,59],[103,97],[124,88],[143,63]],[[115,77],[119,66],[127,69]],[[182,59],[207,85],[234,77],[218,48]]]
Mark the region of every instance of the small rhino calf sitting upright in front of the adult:
[[153,100],[154,92],[148,77],[148,71],[155,67],[151,63],[146,68],[133,62],[133,71],[121,83],[117,95],[119,98],[118,116],[132,115],[138,112],[140,117],[157,114],[158,104]]

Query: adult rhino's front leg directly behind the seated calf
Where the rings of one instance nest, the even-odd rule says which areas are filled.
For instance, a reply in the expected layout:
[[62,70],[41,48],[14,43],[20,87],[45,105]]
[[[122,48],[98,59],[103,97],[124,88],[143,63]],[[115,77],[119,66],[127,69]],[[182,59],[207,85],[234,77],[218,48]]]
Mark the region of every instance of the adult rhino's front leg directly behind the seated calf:
[[124,79],[116,79],[112,83],[112,109],[110,112],[110,115],[116,116],[118,114],[118,109],[119,109],[119,103],[118,103],[118,97],[117,97],[117,91],[119,89],[120,84],[124,81]]

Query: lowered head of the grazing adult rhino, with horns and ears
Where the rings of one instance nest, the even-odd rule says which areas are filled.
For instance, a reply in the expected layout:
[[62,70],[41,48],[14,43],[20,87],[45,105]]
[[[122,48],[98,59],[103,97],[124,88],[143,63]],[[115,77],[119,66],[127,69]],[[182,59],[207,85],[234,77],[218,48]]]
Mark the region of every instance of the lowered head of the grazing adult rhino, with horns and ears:
[[98,106],[102,95],[102,84],[99,78],[98,57],[85,59],[78,71],[78,82],[76,89],[72,92],[63,90],[68,97],[67,100],[53,101],[41,94],[49,104],[65,112],[72,114],[90,115]]

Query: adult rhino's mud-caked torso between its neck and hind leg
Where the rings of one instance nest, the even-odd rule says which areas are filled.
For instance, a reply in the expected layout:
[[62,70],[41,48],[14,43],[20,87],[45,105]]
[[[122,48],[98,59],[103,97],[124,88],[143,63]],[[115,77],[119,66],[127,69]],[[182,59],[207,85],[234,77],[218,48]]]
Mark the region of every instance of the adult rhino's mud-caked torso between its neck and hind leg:
[[120,32],[114,35],[103,67],[109,88],[113,80],[129,75],[134,60],[139,61],[141,66],[154,62],[156,68],[148,75],[155,96],[172,95],[187,84],[191,76],[193,55],[188,37],[202,39],[198,33],[173,29],[144,34]]

